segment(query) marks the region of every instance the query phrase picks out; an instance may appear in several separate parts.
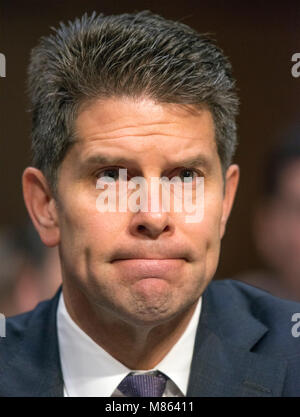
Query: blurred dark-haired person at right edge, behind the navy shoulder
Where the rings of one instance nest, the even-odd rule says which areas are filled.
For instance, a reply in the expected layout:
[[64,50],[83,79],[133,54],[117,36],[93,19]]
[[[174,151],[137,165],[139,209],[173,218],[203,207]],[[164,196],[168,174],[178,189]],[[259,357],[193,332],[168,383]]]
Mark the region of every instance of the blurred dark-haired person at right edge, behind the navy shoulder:
[[265,158],[253,232],[265,270],[237,276],[277,297],[300,301],[300,126],[288,129]]

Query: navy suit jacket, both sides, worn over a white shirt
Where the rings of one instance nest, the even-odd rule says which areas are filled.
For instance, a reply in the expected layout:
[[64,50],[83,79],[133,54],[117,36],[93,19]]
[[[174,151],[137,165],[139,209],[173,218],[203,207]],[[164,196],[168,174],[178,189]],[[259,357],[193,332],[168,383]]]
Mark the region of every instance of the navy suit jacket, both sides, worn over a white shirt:
[[[59,294],[7,319],[0,339],[0,396],[63,396],[56,311]],[[203,294],[188,396],[300,396],[300,303],[250,285],[212,282]]]

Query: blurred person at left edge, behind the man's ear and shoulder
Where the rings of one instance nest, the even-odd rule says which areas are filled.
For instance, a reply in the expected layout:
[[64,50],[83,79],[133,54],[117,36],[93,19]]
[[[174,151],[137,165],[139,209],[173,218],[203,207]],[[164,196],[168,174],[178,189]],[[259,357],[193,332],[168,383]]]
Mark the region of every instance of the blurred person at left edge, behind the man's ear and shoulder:
[[47,248],[32,223],[0,229],[0,312],[32,310],[61,285],[57,248]]

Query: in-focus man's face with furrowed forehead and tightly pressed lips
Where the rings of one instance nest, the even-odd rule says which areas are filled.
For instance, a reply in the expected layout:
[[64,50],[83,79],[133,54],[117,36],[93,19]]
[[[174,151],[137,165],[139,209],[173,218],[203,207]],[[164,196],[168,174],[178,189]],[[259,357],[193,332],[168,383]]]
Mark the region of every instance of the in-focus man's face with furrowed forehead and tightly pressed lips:
[[[224,197],[211,113],[107,99],[83,108],[76,129],[58,181],[64,282],[115,318],[164,322],[191,307],[213,277],[235,191]],[[202,221],[187,223],[187,213],[174,210],[100,213],[97,180],[117,179],[120,168],[149,184],[203,176]]]

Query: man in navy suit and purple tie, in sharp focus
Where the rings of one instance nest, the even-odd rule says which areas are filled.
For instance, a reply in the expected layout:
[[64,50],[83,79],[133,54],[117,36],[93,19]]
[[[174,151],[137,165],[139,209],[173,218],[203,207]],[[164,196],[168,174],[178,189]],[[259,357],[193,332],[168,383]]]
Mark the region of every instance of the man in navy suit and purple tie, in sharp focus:
[[[85,15],[33,50],[29,92],[24,198],[44,244],[59,247],[63,285],[8,320],[1,395],[297,395],[300,306],[209,285],[239,177],[222,51],[150,12]],[[161,182],[129,204],[136,179],[157,178],[177,181],[169,210]],[[190,222],[180,187],[194,202],[201,180],[204,215]]]

